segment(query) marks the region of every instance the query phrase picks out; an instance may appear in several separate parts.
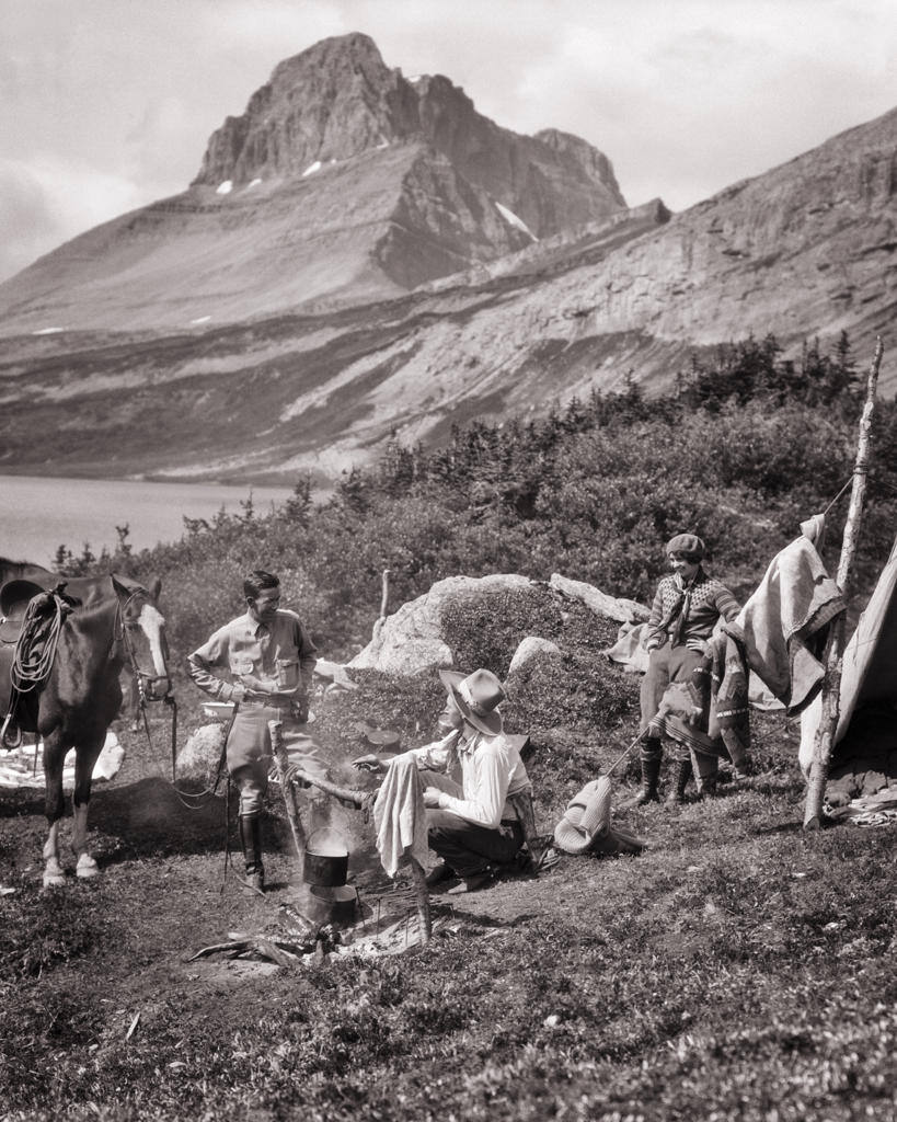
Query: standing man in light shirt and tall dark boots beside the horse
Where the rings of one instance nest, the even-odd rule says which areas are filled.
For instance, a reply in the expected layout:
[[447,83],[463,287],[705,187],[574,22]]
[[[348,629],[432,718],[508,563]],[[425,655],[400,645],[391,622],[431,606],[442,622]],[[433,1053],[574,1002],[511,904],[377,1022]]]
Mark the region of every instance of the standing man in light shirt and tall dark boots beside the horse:
[[220,627],[187,656],[189,677],[218,701],[237,705],[228,737],[228,771],[240,792],[240,842],[246,894],[265,891],[261,802],[271,763],[269,720],[284,725],[290,755],[324,774],[305,732],[315,646],[295,611],[280,608],[280,581],[263,569],[243,580],[247,611]]

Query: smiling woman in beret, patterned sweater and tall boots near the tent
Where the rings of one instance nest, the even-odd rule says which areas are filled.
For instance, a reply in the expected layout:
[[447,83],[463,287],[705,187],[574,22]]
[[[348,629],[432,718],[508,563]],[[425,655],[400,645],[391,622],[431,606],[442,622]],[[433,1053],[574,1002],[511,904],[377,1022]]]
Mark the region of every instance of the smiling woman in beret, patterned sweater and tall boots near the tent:
[[[695,534],[676,534],[666,545],[673,573],[657,586],[645,632],[649,661],[641,681],[641,790],[631,806],[658,799],[663,748],[656,718],[667,688],[673,683],[687,687],[695,672],[702,672],[716,622],[722,618],[728,623],[741,610],[729,589],[704,572],[704,543]],[[708,779],[711,771],[715,774],[715,767],[713,760]],[[682,746],[674,758],[667,801],[682,802],[691,773],[691,753]]]

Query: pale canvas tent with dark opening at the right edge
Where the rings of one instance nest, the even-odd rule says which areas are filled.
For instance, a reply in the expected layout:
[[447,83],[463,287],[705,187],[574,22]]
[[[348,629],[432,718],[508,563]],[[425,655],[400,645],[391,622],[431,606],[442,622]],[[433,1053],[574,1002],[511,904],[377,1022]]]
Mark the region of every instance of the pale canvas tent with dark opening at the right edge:
[[[830,790],[873,794],[897,781],[897,541],[844,649]],[[801,717],[801,767],[810,773],[822,699]]]

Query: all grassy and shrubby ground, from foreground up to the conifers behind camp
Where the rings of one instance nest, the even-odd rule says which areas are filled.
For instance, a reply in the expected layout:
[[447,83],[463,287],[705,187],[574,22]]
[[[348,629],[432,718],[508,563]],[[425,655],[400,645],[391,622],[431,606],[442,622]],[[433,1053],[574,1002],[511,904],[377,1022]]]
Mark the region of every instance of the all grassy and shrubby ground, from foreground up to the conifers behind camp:
[[[847,349],[796,371],[774,341],[748,341],[662,402],[631,392],[544,422],[472,425],[438,452],[391,448],[321,507],[299,484],[270,517],[247,503],[174,546],[133,555],[126,539],[114,558],[62,560],[160,572],[178,661],[239,609],[257,564],[281,574],[329,656],[369,636],[383,568],[396,604],[440,577],[492,571],[561,571],[646,598],[664,541],[687,527],[743,595],[850,477],[852,380]],[[897,524],[895,487],[885,405],[863,587]],[[842,515],[830,514],[830,560]],[[526,597],[451,626],[463,665],[502,674],[527,628],[563,641],[564,671],[511,675],[506,707],[512,730],[535,733],[527,767],[551,830],[636,727],[637,683],[597,654],[613,626]],[[406,746],[429,737],[429,677],[359,683],[313,700],[334,760],[358,752],[361,718]],[[203,718],[183,678],[177,692],[183,738]],[[752,734],[764,774],[724,775],[713,800],[627,811],[635,767],[618,776],[617,813],[647,839],[641,856],[566,857],[537,880],[438,898],[428,948],[284,969],[191,960],[230,931],[283,925],[278,905],[302,884],[277,793],[265,817],[275,891],[244,900],[224,862],[233,807],[229,822],[221,795],[186,807],[166,782],[165,729],[151,751],[122,727],[126,766],[92,806],[98,881],[41,894],[40,799],[0,798],[0,884],[15,889],[0,898],[3,1118],[889,1122],[895,827],[803,834],[795,728],[758,715]],[[362,861],[370,824],[355,816],[351,829],[366,922],[407,913],[401,884],[390,892]]]

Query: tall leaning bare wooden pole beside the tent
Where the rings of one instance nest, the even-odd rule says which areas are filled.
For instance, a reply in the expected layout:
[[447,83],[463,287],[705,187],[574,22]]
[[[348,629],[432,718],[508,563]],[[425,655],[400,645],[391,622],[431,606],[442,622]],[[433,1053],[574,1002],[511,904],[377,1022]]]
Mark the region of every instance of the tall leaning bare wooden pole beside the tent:
[[[876,339],[876,350],[869,367],[869,378],[866,387],[866,405],[860,417],[860,435],[857,441],[857,460],[853,467],[853,489],[850,495],[850,509],[844,523],[844,536],[841,541],[841,559],[838,564],[835,582],[841,589],[844,600],[848,600],[848,587],[851,578],[851,565],[857,552],[862,525],[862,508],[866,498],[866,484],[869,476],[869,458],[872,417],[876,407],[876,388],[878,371],[881,366],[884,347],[881,337]],[[825,673],[822,679],[822,716],[816,732],[813,748],[813,764],[810,769],[806,801],[804,803],[804,829],[814,830],[822,826],[822,803],[825,798],[825,784],[829,780],[829,764],[832,758],[834,738],[838,733],[838,719],[841,715],[841,672],[844,662],[844,616],[842,611],[833,622],[825,643],[823,665]]]

